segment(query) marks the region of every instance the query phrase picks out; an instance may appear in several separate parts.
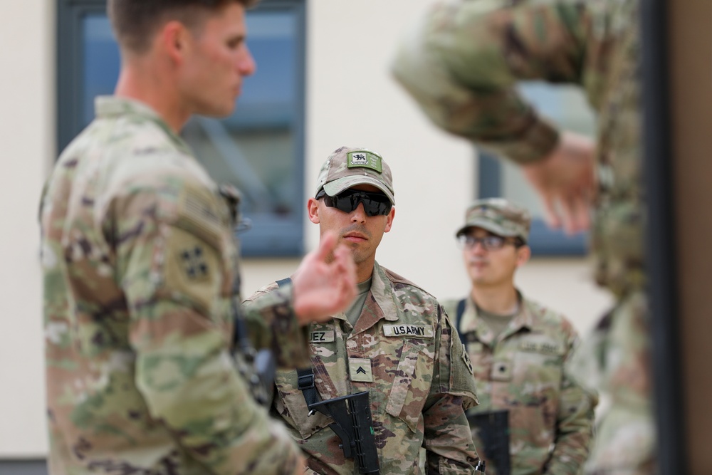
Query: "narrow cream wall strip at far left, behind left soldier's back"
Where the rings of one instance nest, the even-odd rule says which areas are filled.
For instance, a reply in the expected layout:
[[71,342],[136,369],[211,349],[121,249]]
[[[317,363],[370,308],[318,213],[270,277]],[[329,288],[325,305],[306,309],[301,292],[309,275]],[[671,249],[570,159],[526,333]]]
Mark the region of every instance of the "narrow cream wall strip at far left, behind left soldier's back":
[[37,212],[54,151],[53,1],[0,1],[0,458],[46,451]]

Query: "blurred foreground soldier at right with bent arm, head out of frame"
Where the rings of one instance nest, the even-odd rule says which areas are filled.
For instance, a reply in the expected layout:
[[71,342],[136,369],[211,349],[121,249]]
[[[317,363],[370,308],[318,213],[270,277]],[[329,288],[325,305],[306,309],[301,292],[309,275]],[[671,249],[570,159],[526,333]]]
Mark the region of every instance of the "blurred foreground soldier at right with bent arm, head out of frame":
[[[589,473],[651,474],[655,466],[638,7],[637,0],[443,2],[405,39],[393,66],[437,125],[521,165],[550,224],[585,229],[594,209],[596,279],[617,303],[572,357],[573,374],[611,401]],[[597,145],[540,118],[515,90],[521,79],[585,88],[599,115]]]

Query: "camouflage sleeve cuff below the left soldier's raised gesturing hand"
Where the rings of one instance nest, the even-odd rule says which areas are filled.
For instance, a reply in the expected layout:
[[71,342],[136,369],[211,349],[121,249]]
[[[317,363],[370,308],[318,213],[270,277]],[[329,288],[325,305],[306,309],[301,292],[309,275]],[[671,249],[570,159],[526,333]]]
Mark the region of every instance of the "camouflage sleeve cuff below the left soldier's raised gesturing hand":
[[256,348],[271,348],[281,369],[311,365],[307,328],[300,327],[293,309],[281,302],[291,302],[292,286],[272,283],[243,302],[244,315]]

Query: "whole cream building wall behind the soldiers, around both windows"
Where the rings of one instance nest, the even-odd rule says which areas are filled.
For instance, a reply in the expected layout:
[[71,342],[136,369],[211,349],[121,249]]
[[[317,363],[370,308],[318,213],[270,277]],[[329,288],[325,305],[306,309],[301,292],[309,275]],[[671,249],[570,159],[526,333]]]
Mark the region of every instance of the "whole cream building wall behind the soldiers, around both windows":
[[[0,2],[0,459],[46,452],[37,205],[54,150],[55,17],[49,0]],[[377,259],[439,298],[468,284],[454,230],[476,192],[476,157],[432,127],[389,77],[397,36],[430,0],[308,0],[306,192],[341,145],[380,152],[392,167],[394,227]],[[305,197],[305,202],[306,202]],[[306,223],[309,249],[318,226]],[[244,293],[292,273],[298,259],[244,262]],[[529,296],[587,330],[609,304],[584,259],[534,259],[518,275]]]

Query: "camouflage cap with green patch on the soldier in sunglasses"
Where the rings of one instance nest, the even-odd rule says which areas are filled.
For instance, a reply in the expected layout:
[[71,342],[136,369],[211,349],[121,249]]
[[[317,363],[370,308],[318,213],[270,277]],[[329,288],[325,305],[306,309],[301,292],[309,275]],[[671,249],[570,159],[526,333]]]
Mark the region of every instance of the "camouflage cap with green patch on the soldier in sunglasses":
[[316,193],[323,188],[330,197],[357,184],[371,184],[396,204],[393,175],[376,152],[366,148],[340,147],[329,155],[319,170]]

